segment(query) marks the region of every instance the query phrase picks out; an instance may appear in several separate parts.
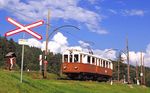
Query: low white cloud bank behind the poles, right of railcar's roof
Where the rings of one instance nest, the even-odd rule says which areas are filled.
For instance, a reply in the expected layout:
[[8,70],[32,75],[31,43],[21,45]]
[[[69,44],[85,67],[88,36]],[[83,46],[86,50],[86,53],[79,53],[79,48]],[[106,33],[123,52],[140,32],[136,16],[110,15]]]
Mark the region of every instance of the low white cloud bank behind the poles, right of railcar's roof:
[[[116,60],[117,59],[117,53],[118,51],[116,50],[111,50],[110,49],[104,49],[104,50],[99,50],[99,49],[95,49],[93,50],[95,55],[98,55],[100,57],[103,58],[108,58],[108,59],[112,59],[112,60]],[[146,52],[142,52],[142,55],[144,57],[144,64],[147,67],[150,67],[150,44],[147,46],[146,48]],[[124,63],[127,63],[127,57],[124,53],[122,53],[121,57],[124,59]],[[141,52],[135,52],[135,51],[129,51],[129,62],[131,65],[136,65],[136,62],[138,63],[138,65],[141,65]]]

